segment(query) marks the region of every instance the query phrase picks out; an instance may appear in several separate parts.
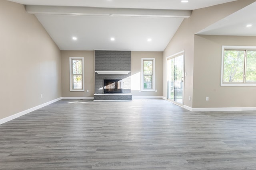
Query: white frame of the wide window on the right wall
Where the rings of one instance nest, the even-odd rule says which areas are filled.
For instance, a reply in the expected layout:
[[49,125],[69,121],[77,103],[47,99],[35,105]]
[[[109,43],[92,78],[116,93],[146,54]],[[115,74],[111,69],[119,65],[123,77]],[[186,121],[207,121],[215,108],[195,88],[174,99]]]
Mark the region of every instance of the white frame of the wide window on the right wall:
[[[249,50],[249,51],[256,51],[256,46],[228,46],[223,45],[222,46],[222,59],[221,59],[221,80],[220,80],[220,86],[256,86],[256,83],[251,82],[223,82],[223,74],[224,74],[224,51],[225,50]],[[245,68],[244,68],[245,69]]]

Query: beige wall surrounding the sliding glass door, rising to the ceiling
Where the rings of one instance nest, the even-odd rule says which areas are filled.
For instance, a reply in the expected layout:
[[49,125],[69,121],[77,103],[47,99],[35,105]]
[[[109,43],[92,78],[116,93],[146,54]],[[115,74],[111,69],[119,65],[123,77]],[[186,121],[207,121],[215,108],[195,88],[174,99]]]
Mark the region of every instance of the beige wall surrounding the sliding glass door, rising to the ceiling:
[[[215,23],[216,21],[229,16],[230,14],[244,8],[248,4],[255,2],[255,0],[238,0],[225,4],[220,4],[216,6],[210,6],[207,8],[201,8],[198,10],[193,10],[190,18],[184,19],[179,29],[176,31],[174,37],[167,45],[164,50],[164,60],[163,60],[163,96],[166,97],[167,94],[167,63],[166,58],[185,50],[185,72],[186,76],[184,78],[184,105],[188,107],[194,106],[194,36],[195,34],[208,27],[209,25]],[[201,70],[201,72],[206,72],[207,70]],[[202,79],[200,80],[202,81]],[[205,87],[207,88],[207,87]],[[191,96],[191,100],[189,100]],[[196,106],[198,107],[198,106]],[[202,106],[208,107],[208,106]]]

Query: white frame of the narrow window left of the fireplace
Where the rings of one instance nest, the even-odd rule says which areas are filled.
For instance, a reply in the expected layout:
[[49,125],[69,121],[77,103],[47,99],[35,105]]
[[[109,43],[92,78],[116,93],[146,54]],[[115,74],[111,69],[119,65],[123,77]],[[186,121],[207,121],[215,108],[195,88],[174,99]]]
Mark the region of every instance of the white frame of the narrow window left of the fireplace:
[[[72,88],[72,60],[81,60],[82,59],[82,89],[73,89]],[[69,80],[70,80],[70,92],[84,92],[84,57],[69,57]]]

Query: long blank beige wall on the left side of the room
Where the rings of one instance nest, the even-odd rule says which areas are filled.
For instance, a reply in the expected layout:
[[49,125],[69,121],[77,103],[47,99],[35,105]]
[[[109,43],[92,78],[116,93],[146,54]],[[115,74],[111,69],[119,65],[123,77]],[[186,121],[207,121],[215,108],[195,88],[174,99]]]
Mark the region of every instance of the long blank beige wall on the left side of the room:
[[0,25],[0,119],[60,98],[60,50],[36,16],[0,0]]

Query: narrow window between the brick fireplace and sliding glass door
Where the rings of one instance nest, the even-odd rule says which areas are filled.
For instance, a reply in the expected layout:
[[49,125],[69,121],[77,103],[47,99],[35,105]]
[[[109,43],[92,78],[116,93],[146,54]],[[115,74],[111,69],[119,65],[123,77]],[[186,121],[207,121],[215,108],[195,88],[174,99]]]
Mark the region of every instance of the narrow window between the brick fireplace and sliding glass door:
[[141,59],[141,91],[155,90],[155,59]]

